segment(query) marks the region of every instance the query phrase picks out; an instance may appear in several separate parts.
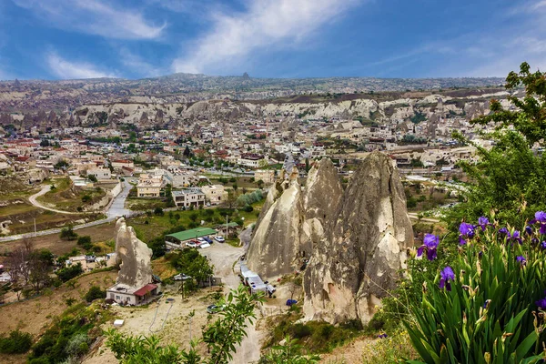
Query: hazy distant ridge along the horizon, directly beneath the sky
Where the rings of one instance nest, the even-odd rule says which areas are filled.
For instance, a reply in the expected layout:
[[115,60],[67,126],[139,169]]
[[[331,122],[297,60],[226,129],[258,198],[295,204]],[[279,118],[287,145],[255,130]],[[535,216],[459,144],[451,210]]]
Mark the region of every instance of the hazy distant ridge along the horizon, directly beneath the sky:
[[0,109],[8,112],[58,110],[112,102],[188,103],[208,99],[264,100],[313,94],[482,88],[504,83],[500,77],[460,78],[255,78],[173,74],[128,80],[0,81]]

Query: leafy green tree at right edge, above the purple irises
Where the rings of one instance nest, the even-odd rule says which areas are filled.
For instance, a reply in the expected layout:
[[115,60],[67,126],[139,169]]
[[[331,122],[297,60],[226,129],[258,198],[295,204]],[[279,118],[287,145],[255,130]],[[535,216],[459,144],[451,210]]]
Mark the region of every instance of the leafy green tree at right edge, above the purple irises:
[[[460,163],[472,183],[463,195],[465,201],[448,212],[448,221],[475,219],[495,209],[498,218],[515,225],[521,223],[521,218],[529,217],[521,216],[523,201],[532,211],[546,208],[546,156],[531,150],[535,145],[543,147],[546,140],[546,73],[531,74],[529,69],[523,63],[519,74],[511,72],[506,79],[509,90],[525,87],[522,100],[508,96],[514,106],[510,110],[491,100],[490,115],[472,121],[480,125],[494,123],[496,131],[488,137],[495,144],[490,150],[475,146],[478,163]],[[472,144],[463,136],[456,136]]]

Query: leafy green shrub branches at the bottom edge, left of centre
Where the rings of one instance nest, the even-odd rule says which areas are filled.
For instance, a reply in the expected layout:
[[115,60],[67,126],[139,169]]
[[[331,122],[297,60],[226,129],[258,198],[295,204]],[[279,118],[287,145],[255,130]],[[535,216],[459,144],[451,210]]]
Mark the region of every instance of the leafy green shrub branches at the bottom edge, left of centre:
[[247,335],[248,324],[253,324],[256,319],[255,308],[262,301],[262,298],[249,295],[246,288],[239,286],[228,294],[225,302],[220,302],[226,307],[217,313],[218,319],[203,331],[202,341],[208,349],[208,358],[205,359],[197,353],[196,342],[189,350],[179,349],[173,345],[160,346],[159,339],[154,336],[126,337],[115,330],[108,331],[106,346],[122,364],[227,364],[233,358],[235,346]]

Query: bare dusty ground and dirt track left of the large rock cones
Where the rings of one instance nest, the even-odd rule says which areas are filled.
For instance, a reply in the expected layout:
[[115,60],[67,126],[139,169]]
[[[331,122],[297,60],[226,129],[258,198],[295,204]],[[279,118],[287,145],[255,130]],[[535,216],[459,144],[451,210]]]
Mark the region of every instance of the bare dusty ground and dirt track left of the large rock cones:
[[[236,263],[244,253],[244,248],[214,243],[210,248],[199,250],[199,252],[209,258],[214,265],[215,277],[222,278],[224,287],[203,288],[189,298],[182,298],[175,286],[165,288],[164,297],[147,308],[114,307],[112,309],[116,312],[116,319],[125,319],[124,326],[119,330],[127,335],[150,336],[155,334],[163,344],[174,344],[183,349],[189,348],[190,332],[192,339],[200,339],[202,327],[207,325],[209,320],[217,319],[216,316],[207,314],[207,306],[215,303],[212,294],[218,290],[226,294],[229,289],[237,288],[240,283]],[[285,296],[289,294],[287,288],[279,288],[278,298],[268,299],[264,306],[257,310],[257,318],[276,315],[286,310],[287,307],[283,306],[283,302],[286,301]],[[174,298],[174,301],[167,303],[167,298]],[[192,311],[195,312],[195,316],[190,320],[188,315]],[[112,327],[112,323],[109,323],[104,329]],[[267,336],[267,330],[268,328],[260,325],[259,321],[255,322],[255,325],[249,325],[248,336],[237,347],[237,352],[231,363],[244,364],[258,361],[261,344]],[[200,345],[198,348],[201,353],[206,354],[207,349],[204,345]],[[104,364],[117,363],[117,360],[112,352],[103,346],[92,358],[88,358],[84,362],[86,364]]]

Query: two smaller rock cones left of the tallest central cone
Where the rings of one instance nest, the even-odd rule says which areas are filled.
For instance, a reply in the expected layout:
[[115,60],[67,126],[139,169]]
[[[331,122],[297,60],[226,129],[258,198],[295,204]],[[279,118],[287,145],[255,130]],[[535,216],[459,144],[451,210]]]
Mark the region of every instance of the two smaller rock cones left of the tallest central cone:
[[303,190],[292,175],[271,187],[248,248],[248,268],[266,278],[297,270],[322,238],[341,194],[338,173],[327,158],[311,168]]

